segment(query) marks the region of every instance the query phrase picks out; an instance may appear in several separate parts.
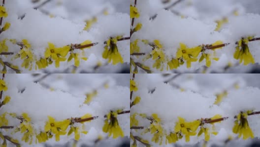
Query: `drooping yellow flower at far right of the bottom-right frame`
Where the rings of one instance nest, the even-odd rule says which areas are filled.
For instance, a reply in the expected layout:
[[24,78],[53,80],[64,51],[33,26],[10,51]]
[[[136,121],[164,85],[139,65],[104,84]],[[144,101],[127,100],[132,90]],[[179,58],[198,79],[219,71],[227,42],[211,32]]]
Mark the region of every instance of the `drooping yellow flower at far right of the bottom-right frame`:
[[233,133],[238,133],[238,138],[240,138],[242,135],[244,140],[248,139],[249,137],[254,138],[254,133],[252,132],[247,121],[247,116],[251,112],[252,111],[240,112],[236,116],[235,125],[233,126]]

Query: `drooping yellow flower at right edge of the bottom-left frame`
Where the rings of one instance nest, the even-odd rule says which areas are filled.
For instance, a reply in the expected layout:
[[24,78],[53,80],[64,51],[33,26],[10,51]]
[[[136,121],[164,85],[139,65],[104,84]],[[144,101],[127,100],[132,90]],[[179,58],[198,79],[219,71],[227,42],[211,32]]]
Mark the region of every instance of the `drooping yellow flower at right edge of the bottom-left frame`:
[[106,116],[107,119],[105,120],[104,126],[102,128],[103,132],[108,133],[110,137],[113,134],[113,138],[118,138],[119,136],[124,137],[124,132],[121,129],[120,125],[118,124],[117,114],[118,111],[111,111]]

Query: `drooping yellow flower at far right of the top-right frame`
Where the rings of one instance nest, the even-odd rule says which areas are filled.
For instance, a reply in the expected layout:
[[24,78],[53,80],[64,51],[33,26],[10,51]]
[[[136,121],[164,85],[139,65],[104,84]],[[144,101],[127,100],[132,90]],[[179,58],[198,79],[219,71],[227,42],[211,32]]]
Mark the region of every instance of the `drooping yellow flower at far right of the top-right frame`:
[[252,38],[253,37],[250,36],[247,38],[242,38],[238,41],[236,50],[234,52],[234,58],[239,59],[239,63],[242,63],[242,61],[244,61],[244,65],[248,65],[249,63],[255,63],[254,57],[252,56],[248,48],[248,42]]

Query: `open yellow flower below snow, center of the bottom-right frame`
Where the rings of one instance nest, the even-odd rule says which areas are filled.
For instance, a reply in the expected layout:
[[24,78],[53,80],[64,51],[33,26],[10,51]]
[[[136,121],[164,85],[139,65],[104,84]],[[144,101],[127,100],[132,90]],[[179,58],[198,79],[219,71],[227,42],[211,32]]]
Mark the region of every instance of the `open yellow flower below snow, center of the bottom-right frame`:
[[174,127],[174,132],[185,135],[186,142],[190,141],[190,136],[196,135],[196,130],[200,124],[200,121],[185,122],[184,118],[178,117],[179,122]]

